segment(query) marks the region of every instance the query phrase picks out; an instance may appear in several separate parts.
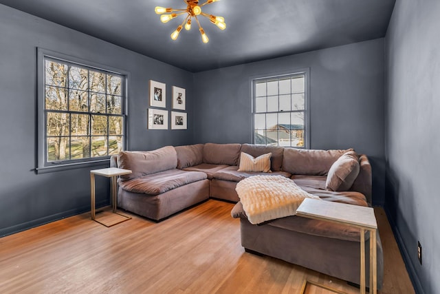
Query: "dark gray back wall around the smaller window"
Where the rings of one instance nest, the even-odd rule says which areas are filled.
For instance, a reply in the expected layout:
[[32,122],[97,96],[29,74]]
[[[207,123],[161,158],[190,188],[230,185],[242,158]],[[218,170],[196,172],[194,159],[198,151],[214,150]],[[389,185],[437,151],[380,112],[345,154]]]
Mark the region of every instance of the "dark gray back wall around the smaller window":
[[384,202],[384,39],[195,74],[201,143],[252,143],[250,77],[309,67],[312,149],[355,148],[373,167]]

